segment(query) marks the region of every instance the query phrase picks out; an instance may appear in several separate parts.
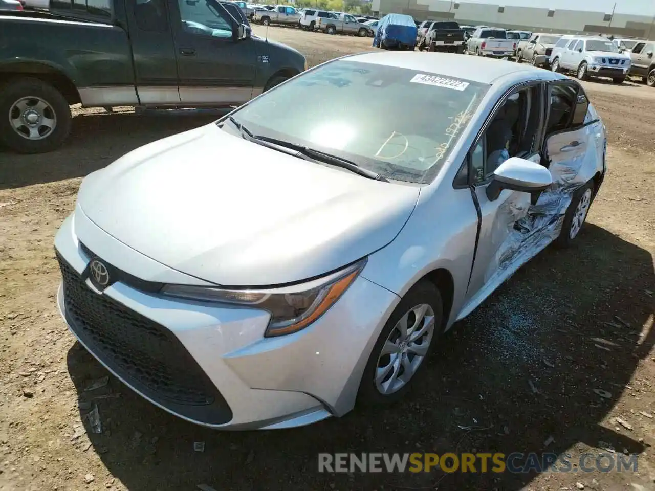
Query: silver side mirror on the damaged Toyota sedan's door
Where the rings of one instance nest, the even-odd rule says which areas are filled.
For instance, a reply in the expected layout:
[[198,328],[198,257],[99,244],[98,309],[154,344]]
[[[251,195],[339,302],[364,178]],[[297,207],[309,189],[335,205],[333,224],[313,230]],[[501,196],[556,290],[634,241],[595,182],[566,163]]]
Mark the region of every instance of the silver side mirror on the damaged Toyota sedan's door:
[[525,158],[510,157],[500,164],[487,186],[487,198],[495,201],[503,189],[522,192],[540,192],[552,184],[550,170]]

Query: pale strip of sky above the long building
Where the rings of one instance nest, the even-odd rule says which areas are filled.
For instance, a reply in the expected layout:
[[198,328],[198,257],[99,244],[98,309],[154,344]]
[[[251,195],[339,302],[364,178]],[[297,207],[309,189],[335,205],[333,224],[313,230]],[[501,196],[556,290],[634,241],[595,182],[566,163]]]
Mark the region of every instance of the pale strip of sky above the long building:
[[[474,3],[498,3],[498,5],[517,7],[536,7],[534,0],[466,0]],[[539,7],[548,9],[591,10],[593,12],[612,12],[616,1],[617,14],[655,15],[655,0],[542,0]]]

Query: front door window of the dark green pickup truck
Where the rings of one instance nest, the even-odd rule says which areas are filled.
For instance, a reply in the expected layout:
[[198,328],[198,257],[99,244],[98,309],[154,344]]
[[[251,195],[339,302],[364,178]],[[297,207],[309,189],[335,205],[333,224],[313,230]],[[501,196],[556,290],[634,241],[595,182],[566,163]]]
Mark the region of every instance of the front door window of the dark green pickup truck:
[[232,37],[232,19],[222,5],[202,0],[178,0],[182,30],[193,35]]

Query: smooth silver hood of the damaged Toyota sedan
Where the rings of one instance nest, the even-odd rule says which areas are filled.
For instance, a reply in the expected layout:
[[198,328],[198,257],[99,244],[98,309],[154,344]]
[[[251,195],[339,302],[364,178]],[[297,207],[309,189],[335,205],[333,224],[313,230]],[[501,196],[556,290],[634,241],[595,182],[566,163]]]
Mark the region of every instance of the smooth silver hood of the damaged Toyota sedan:
[[78,204],[105,232],[166,266],[255,286],[320,276],[384,247],[419,189],[267,149],[212,123],[88,175]]

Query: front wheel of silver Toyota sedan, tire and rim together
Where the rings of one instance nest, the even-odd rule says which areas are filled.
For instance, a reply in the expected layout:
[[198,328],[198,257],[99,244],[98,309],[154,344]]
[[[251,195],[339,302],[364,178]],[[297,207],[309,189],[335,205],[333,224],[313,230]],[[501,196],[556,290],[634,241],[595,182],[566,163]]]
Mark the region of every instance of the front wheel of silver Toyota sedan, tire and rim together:
[[358,395],[362,403],[398,401],[416,383],[440,335],[442,313],[433,283],[421,281],[405,293],[369,356]]

